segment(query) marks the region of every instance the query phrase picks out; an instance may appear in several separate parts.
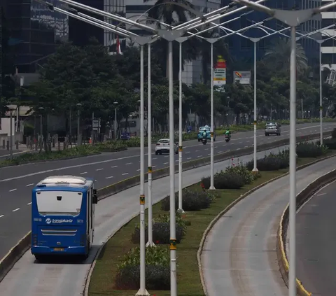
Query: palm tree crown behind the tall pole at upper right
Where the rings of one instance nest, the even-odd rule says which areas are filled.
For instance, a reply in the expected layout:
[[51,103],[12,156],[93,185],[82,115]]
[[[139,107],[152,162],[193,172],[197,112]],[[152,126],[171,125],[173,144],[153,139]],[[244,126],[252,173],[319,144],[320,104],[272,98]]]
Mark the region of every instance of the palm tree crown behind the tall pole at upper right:
[[[289,71],[290,39],[276,38],[272,46],[265,52],[265,61],[272,65],[274,71]],[[296,45],[296,69],[303,73],[308,68],[308,59],[300,43]]]

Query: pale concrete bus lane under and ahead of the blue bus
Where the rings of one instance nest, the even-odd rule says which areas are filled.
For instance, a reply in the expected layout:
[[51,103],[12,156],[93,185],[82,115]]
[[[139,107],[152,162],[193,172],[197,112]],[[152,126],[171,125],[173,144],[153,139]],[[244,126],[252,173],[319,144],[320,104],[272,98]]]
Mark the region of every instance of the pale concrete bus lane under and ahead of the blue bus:
[[[286,146],[288,147],[288,146]],[[285,147],[283,147],[285,148]],[[279,150],[275,148],[272,152]],[[263,157],[271,151],[258,153],[258,157]],[[240,157],[242,162],[252,159],[252,155]],[[230,165],[230,160],[214,164],[215,171]],[[210,166],[186,171],[183,176],[183,186],[188,186],[204,176],[208,175]],[[175,178],[175,189],[178,188],[178,175]],[[153,200],[169,195],[169,177],[153,181]],[[147,195],[148,187],[145,186]],[[90,269],[92,259],[97,248],[102,246],[111,234],[127,223],[132,217],[139,213],[139,185],[124,190],[116,195],[107,197],[98,202],[95,208],[94,217],[94,245],[90,252],[90,258],[86,262],[73,264],[71,262],[59,261],[39,264],[34,261],[34,256],[30,251],[15,264],[12,270],[0,283],[0,295],[2,296],[74,296],[83,295],[83,288],[87,273]],[[179,252],[179,250],[178,250]],[[220,257],[219,257],[220,258]],[[223,279],[221,279],[223,281]],[[151,291],[148,291],[151,292]],[[132,293],[129,293],[132,295]],[[230,296],[234,296],[228,294]],[[273,294],[269,294],[270,296]],[[223,291],[220,296],[223,296]]]

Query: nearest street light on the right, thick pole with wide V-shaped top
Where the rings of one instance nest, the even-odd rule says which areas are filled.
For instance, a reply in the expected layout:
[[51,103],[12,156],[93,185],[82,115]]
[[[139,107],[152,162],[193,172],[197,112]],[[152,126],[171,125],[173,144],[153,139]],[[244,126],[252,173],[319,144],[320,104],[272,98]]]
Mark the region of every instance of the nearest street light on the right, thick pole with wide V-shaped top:
[[296,215],[296,29],[299,24],[311,19],[314,15],[335,7],[336,2],[326,4],[320,8],[306,10],[279,10],[262,6],[248,0],[234,0],[241,5],[246,5],[253,10],[260,10],[290,26],[290,194],[289,194],[289,276],[288,290],[289,296],[296,295],[296,275],[295,275],[295,215]]

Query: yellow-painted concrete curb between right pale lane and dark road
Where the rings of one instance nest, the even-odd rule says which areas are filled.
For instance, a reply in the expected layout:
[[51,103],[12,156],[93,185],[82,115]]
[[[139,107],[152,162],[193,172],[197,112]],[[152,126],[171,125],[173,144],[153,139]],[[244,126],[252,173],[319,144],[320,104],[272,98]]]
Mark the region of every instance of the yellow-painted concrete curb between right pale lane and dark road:
[[[316,178],[315,181],[310,183],[306,188],[304,188],[297,196],[296,196],[296,207],[297,209],[304,204],[304,202],[314,194],[314,192],[318,191],[323,186],[328,183],[334,181],[336,179],[336,169],[329,171],[327,174]],[[289,204],[286,206],[286,209],[283,211],[279,228],[276,236],[276,254],[279,261],[279,269],[281,272],[281,276],[286,286],[288,286],[288,271],[289,271],[289,263],[286,254],[286,234],[287,234],[287,225],[289,220]],[[311,296],[312,294],[307,291],[302,285],[299,279],[296,279],[297,286],[297,295],[299,296]]]

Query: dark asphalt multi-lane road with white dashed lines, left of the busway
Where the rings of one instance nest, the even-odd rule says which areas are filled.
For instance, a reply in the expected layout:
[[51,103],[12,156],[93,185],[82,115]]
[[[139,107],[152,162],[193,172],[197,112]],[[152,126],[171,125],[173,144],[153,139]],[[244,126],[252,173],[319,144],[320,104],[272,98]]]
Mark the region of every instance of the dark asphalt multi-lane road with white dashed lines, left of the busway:
[[[326,123],[324,132],[336,127],[336,123]],[[316,134],[319,125],[297,125],[297,136]],[[258,131],[258,143],[269,143],[286,139],[289,126],[283,126],[281,136],[265,136]],[[195,141],[186,141],[183,149],[183,161],[210,155],[210,145]],[[253,132],[239,132],[232,135],[232,140],[225,143],[223,136],[218,136],[214,144],[215,154],[228,150],[237,150],[253,146]],[[155,147],[155,146],[153,146]],[[154,150],[153,150],[154,151]],[[146,162],[147,162],[147,157]],[[153,154],[153,170],[169,166],[169,155]],[[176,163],[178,155],[175,156]],[[147,164],[145,164],[147,167]],[[31,188],[38,181],[52,175],[77,175],[93,177],[98,188],[116,183],[139,174],[139,148],[131,148],[119,153],[104,153],[73,160],[24,164],[17,167],[0,169],[0,258],[9,251],[27,232],[31,223]]]

